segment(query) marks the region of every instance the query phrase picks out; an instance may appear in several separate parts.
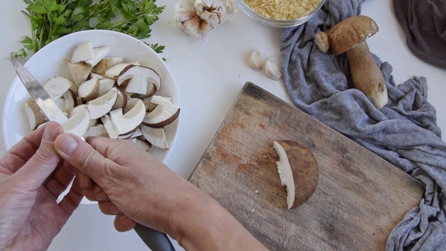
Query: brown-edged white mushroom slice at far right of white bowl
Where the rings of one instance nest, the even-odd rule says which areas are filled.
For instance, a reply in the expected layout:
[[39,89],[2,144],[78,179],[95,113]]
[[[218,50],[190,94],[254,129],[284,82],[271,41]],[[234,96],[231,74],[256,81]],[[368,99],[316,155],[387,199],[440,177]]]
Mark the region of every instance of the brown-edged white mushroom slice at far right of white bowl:
[[157,105],[152,112],[148,112],[144,116],[144,125],[153,128],[163,128],[174,122],[180,114],[180,107],[174,105],[173,102],[162,98],[162,96],[153,96],[151,103]]

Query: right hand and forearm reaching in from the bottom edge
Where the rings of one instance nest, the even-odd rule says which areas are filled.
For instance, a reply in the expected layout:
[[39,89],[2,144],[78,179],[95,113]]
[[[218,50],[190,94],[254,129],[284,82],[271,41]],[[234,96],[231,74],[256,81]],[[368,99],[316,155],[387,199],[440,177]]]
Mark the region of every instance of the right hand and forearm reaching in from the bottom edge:
[[116,215],[118,231],[139,222],[169,234],[186,250],[266,250],[217,201],[137,144],[102,137],[87,142],[64,133],[54,147],[77,169],[86,197]]

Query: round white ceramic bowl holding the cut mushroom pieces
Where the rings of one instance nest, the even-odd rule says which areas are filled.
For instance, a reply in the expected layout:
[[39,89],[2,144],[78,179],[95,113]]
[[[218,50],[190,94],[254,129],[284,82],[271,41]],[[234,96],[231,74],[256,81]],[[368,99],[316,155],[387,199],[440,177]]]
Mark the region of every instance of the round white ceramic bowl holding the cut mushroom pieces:
[[[68,67],[66,66],[66,59],[69,59],[72,50],[79,43],[83,42],[91,42],[93,47],[107,45],[110,47],[109,56],[124,56],[125,61],[139,61],[141,65],[153,68],[162,79],[161,89],[157,91],[157,95],[171,96],[172,102],[180,106],[176,83],[166,63],[151,47],[137,38],[125,35],[124,33],[105,30],[71,33],[43,47],[31,56],[24,66],[38,79],[40,84],[47,81],[49,77],[60,75],[70,77]],[[13,67],[11,67],[11,70],[13,70]],[[31,132],[24,105],[27,98],[29,98],[28,92],[22,82],[20,82],[20,79],[15,77],[3,107],[2,128],[6,149],[10,149],[24,135]],[[166,127],[166,136],[170,149],[162,150],[156,147],[151,149],[151,153],[162,162],[166,160],[174,146],[179,128],[179,119],[176,119],[174,123]]]

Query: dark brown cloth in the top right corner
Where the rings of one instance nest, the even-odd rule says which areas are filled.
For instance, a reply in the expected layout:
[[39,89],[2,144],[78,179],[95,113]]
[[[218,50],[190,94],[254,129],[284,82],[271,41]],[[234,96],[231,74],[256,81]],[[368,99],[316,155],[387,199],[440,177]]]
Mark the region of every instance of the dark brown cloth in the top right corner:
[[446,1],[394,0],[393,6],[410,51],[446,69]]

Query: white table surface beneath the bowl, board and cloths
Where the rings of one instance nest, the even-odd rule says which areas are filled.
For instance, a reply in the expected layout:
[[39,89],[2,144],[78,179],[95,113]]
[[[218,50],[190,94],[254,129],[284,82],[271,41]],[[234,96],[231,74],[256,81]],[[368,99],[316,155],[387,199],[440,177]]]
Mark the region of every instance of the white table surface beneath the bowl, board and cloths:
[[[279,54],[280,29],[254,22],[237,8],[238,12],[210,33],[208,40],[195,40],[171,24],[175,3],[172,0],[158,1],[158,5],[165,4],[166,8],[160,20],[153,25],[151,38],[145,41],[166,46],[161,56],[168,59],[167,65],[178,84],[180,130],[166,164],[188,178],[245,82],[254,82],[286,102],[291,100],[282,81],[268,79],[264,73],[252,70],[247,64],[247,57],[254,50],[263,50],[265,57]],[[0,15],[0,104],[5,102],[15,77],[10,61],[6,60],[8,53],[20,49],[18,40],[31,33],[29,20],[20,13],[24,8],[23,1],[3,1]],[[446,94],[446,70],[424,63],[410,53],[403,31],[394,17],[392,0],[366,1],[362,14],[372,17],[380,26],[379,33],[368,40],[369,47],[381,60],[392,64],[397,84],[412,76],[427,78],[428,100],[436,107],[438,126],[446,133],[446,99],[443,97]],[[3,116],[3,109],[0,112]],[[3,155],[6,149],[2,144],[3,137],[0,137],[0,153]],[[118,233],[113,227],[112,216],[102,215],[94,204],[83,204],[54,238],[49,250],[147,248],[134,231]]]

